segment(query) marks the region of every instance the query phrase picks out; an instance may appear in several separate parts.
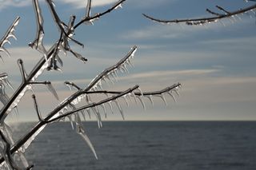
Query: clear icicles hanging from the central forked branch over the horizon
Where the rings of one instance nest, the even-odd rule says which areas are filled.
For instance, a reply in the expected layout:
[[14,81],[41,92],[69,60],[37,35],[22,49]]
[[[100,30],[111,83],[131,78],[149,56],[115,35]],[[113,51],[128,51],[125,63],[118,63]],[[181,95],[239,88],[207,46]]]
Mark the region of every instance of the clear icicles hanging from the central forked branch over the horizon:
[[[113,65],[110,68],[105,69],[102,73],[98,74],[98,76],[96,76],[94,78],[94,80],[90,82],[90,84],[86,87],[86,89],[83,89],[84,93],[82,93],[81,95],[76,97],[73,101],[70,101],[69,105],[66,105],[65,107],[63,107],[58,113],[56,113],[54,115],[54,117],[52,117],[52,119],[59,117],[61,115],[64,115],[65,113],[68,113],[69,111],[76,110],[77,109],[76,105],[78,105],[80,102],[86,101],[87,105],[93,104],[94,102],[92,100],[92,97],[90,97],[90,95],[93,95],[95,93],[97,94],[97,93],[103,92],[103,94],[106,94],[106,98],[113,97],[115,94],[117,94],[118,92],[115,92],[114,94],[112,93],[112,95],[111,95],[111,93],[108,93],[108,91],[104,91],[102,89],[102,81],[104,81],[106,83],[111,82],[111,84],[114,84],[114,81],[117,81],[118,72],[128,73],[128,69],[127,69],[128,66],[130,65],[133,67],[131,59],[134,57],[134,53],[136,52],[136,50],[137,50],[137,47],[134,46],[133,48],[131,48],[130,52],[126,55],[126,57],[122,58],[122,60],[119,61],[116,65]],[[70,85],[70,84],[71,83],[67,83],[66,85],[69,85],[69,87],[71,89],[72,85]],[[78,112],[75,112],[66,117],[63,117],[62,120],[58,120],[58,121],[65,121],[65,119],[68,119],[68,121],[70,121],[71,127],[73,129],[75,128],[76,132],[80,136],[82,136],[82,138],[84,140],[86,140],[86,143],[90,146],[90,149],[92,150],[92,152],[94,152],[94,156],[97,158],[94,147],[91,144],[88,136],[86,136],[86,131],[84,130],[84,128],[82,126],[81,120],[83,118],[84,121],[86,121],[86,114],[88,114],[88,117],[91,117],[91,114],[94,114],[94,116],[96,117],[97,122],[98,122],[98,128],[102,128],[102,113],[105,115],[105,117],[107,117],[106,105],[109,106],[110,112],[114,113],[114,109],[113,109],[114,108],[113,103],[114,103],[116,105],[116,107],[118,108],[122,118],[125,119],[122,105],[121,105],[121,102],[119,99],[122,98],[126,102],[126,105],[128,105],[128,106],[129,106],[129,101],[131,102],[134,99],[134,101],[136,103],[140,102],[142,104],[143,108],[146,109],[146,105],[144,103],[143,97],[149,98],[152,105],[154,105],[153,97],[161,97],[162,101],[164,101],[164,103],[166,104],[165,95],[169,94],[170,97],[172,97],[174,99],[174,101],[176,101],[176,98],[174,97],[174,93],[179,95],[178,89],[180,87],[181,87],[181,85],[178,83],[178,84],[172,85],[170,87],[167,87],[166,89],[162,89],[161,91],[157,91],[157,92],[153,92],[153,93],[152,92],[151,93],[142,93],[141,89],[136,88],[136,89],[134,89],[134,91],[131,91],[130,93],[127,93],[127,94],[123,95],[122,97],[118,97],[115,100],[107,101],[106,103],[102,103],[101,105],[94,105],[92,107],[79,110]],[[64,101],[62,101],[59,105],[66,103],[67,100],[68,100],[68,98],[65,99]],[[75,127],[74,127],[74,125],[75,125]],[[30,142],[30,141],[28,141],[28,142]],[[29,144],[27,144],[27,145],[29,145]]]

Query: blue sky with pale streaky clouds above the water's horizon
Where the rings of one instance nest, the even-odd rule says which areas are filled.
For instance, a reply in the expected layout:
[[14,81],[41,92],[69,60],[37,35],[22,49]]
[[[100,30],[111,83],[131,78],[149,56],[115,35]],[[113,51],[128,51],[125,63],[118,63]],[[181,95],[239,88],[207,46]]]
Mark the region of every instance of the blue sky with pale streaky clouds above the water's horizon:
[[[44,17],[47,48],[58,39],[44,1],[39,1]],[[70,15],[77,19],[85,14],[84,0],[55,0],[56,10],[63,22]],[[93,0],[91,13],[108,9],[115,0]],[[230,11],[250,6],[254,2],[242,0],[127,0],[122,9],[106,14],[94,26],[82,25],[74,38],[84,43],[85,48],[72,44],[72,48],[88,59],[86,64],[71,54],[61,55],[64,66],[61,72],[44,72],[38,81],[50,80],[58,91],[61,101],[72,92],[63,85],[74,81],[86,87],[103,69],[114,65],[126,55],[133,45],[138,46],[130,73],[119,73],[118,82],[104,85],[104,89],[128,89],[140,85],[142,91],[164,89],[174,83],[182,83],[178,102],[166,96],[167,106],[160,97],[154,98],[154,106],[146,101],[142,105],[122,103],[127,121],[255,121],[256,120],[256,18],[255,11],[232,20],[225,19],[206,26],[179,24],[162,25],[142,16],[155,18],[198,18],[210,16],[206,8],[216,10],[219,5]],[[29,73],[42,55],[27,45],[34,41],[36,23],[30,0],[0,0],[0,37],[17,16],[21,21],[15,34],[18,40],[6,45],[11,57],[1,53],[0,72],[9,74],[14,88],[18,88],[21,76],[16,64],[22,58]],[[6,89],[9,96],[10,89]],[[44,86],[34,87],[42,115],[50,112],[58,101]],[[74,92],[74,91],[73,91]],[[20,105],[19,114],[8,117],[9,121],[36,121],[30,92]],[[176,96],[177,97],[177,96]],[[110,113],[110,112],[109,112]],[[104,119],[105,120],[105,119]],[[107,121],[122,121],[115,108]]]

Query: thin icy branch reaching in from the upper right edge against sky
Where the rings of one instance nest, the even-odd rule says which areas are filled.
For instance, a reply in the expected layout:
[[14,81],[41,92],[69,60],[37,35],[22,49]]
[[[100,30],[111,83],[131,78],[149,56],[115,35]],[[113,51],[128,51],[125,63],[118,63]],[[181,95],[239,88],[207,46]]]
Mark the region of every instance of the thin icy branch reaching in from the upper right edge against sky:
[[252,5],[246,8],[242,8],[239,10],[235,10],[233,12],[227,11],[225,10],[223,7],[221,6],[216,6],[218,8],[218,10],[221,10],[222,12],[224,12],[225,14],[218,14],[213,12],[212,10],[206,9],[207,12],[209,12],[210,14],[213,14],[214,17],[209,17],[209,18],[189,18],[189,19],[174,19],[174,20],[162,20],[162,19],[157,19],[157,18],[153,18],[150,17],[147,14],[143,14],[144,17],[149,18],[150,20],[154,21],[154,22],[161,22],[163,24],[171,24],[171,23],[186,23],[186,25],[192,25],[192,26],[197,26],[197,25],[203,25],[203,24],[207,24],[207,23],[211,23],[211,22],[218,22],[224,18],[234,18],[236,16],[238,16],[239,14],[246,14],[249,12],[252,12],[255,14],[255,10],[256,10],[256,5]]

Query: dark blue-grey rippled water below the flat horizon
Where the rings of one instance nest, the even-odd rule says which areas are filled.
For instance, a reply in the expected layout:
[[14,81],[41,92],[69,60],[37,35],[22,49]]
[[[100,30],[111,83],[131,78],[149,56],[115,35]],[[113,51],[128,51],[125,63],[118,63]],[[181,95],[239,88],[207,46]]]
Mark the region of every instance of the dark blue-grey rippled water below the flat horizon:
[[60,123],[46,127],[26,150],[34,169],[256,169],[256,122],[103,122],[102,129],[89,122],[85,126],[98,160],[70,123]]

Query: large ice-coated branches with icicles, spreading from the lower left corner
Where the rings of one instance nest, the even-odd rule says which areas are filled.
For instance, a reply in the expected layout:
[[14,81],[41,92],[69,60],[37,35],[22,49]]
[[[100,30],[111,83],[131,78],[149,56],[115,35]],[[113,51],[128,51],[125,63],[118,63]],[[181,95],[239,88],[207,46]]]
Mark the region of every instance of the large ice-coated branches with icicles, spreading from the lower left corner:
[[[131,63],[131,59],[134,57],[134,53],[137,50],[137,46],[133,46],[130,51],[126,54],[125,57],[123,57],[118,63],[115,65],[110,66],[107,69],[104,69],[102,73],[98,74],[90,82],[88,86],[85,88],[80,88],[78,85],[74,84],[73,82],[66,81],[65,85],[68,85],[69,87],[72,87],[74,89],[77,89],[77,91],[73,94],[71,94],[69,97],[66,97],[62,102],[60,102],[54,109],[50,111],[48,114],[41,114],[39,107],[38,107],[38,101],[36,99],[36,96],[33,91],[33,87],[35,85],[46,85],[46,88],[58,99],[58,94],[56,90],[54,89],[52,83],[50,81],[36,81],[38,76],[40,76],[44,70],[60,70],[58,67],[58,63],[60,65],[63,65],[62,59],[58,56],[59,52],[63,52],[66,54],[66,52],[70,52],[74,55],[74,57],[77,57],[79,60],[86,62],[87,59],[85,57],[82,57],[81,54],[75,52],[73,49],[71,49],[69,42],[74,42],[78,45],[81,45],[83,47],[83,44],[81,42],[78,42],[73,38],[74,31],[78,26],[82,25],[82,23],[90,23],[93,24],[94,20],[102,17],[105,14],[110,13],[113,10],[118,9],[118,7],[122,7],[122,3],[126,0],[118,0],[118,2],[114,3],[114,6],[110,7],[108,10],[103,11],[99,14],[91,15],[91,0],[87,1],[86,6],[86,14],[84,15],[84,18],[82,18],[81,21],[79,21],[77,24],[76,22],[76,16],[71,15],[70,16],[70,22],[68,24],[62,22],[61,18],[59,17],[57,11],[55,10],[55,6],[53,3],[53,0],[46,0],[46,4],[48,5],[50,12],[52,14],[52,18],[54,19],[54,22],[57,25],[57,28],[59,30],[59,38],[57,41],[55,41],[54,45],[50,47],[50,49],[46,50],[46,48],[43,45],[43,38],[45,36],[44,34],[44,19],[42,16],[42,10],[39,6],[38,0],[33,0],[32,3],[34,5],[34,14],[36,18],[36,25],[37,25],[37,32],[36,32],[36,38],[33,42],[31,42],[29,45],[30,47],[37,49],[40,53],[43,54],[43,57],[38,61],[36,65],[34,65],[34,68],[30,71],[30,73],[26,73],[26,69],[23,65],[23,61],[21,59],[18,60],[18,67],[20,69],[21,75],[22,75],[22,82],[21,85],[19,85],[18,89],[14,91],[14,94],[11,97],[8,97],[6,94],[6,86],[12,86],[10,85],[8,79],[7,79],[7,73],[1,73],[0,74],[0,101],[3,104],[2,110],[0,112],[0,168],[5,169],[30,169],[33,167],[33,165],[30,165],[27,163],[26,158],[23,155],[23,152],[26,151],[26,148],[30,145],[30,143],[35,139],[36,136],[42,130],[46,127],[46,125],[49,125],[53,122],[58,122],[61,120],[65,120],[65,118],[70,119],[72,128],[74,128],[75,125],[75,131],[78,133],[79,136],[82,137],[83,140],[86,141],[86,144],[90,147],[91,151],[94,153],[94,156],[96,159],[98,156],[96,155],[94,146],[91,144],[89,137],[86,135],[86,130],[83,128],[81,116],[86,121],[85,114],[88,113],[90,117],[90,113],[94,113],[95,117],[98,121],[98,127],[102,127],[102,112],[107,114],[106,105],[110,106],[111,111],[113,112],[113,106],[112,104],[115,103],[119,112],[122,115],[122,118],[124,119],[124,113],[122,111],[122,105],[120,105],[119,101],[120,98],[124,98],[126,100],[126,97],[134,97],[135,101],[137,102],[136,98],[138,98],[139,101],[141,101],[143,107],[145,108],[145,104],[142,100],[142,97],[161,97],[163,101],[166,102],[164,98],[164,94],[168,93],[170,96],[174,97],[173,93],[178,94],[178,87],[180,84],[174,84],[170,87],[167,87],[166,89],[154,91],[154,92],[142,92],[141,89],[139,89],[138,85],[135,85],[134,87],[126,90],[121,91],[109,91],[109,90],[103,90],[102,89],[102,81],[113,81],[116,80],[118,77],[118,72],[122,73],[128,73],[127,66],[133,66]],[[18,25],[19,18],[16,18],[13,24],[10,26],[10,28],[7,30],[6,34],[4,34],[4,37],[0,41],[0,51],[5,52],[7,55],[10,55],[8,51],[3,47],[3,45],[6,44],[6,42],[10,43],[9,38],[15,38],[14,36],[14,28]],[[16,38],[15,38],[16,39]],[[6,125],[6,117],[9,115],[9,113],[12,111],[12,109],[15,109],[18,106],[19,101],[22,100],[22,97],[25,95],[27,90],[32,90],[33,95],[33,101],[34,101],[34,109],[38,116],[38,123],[34,125],[34,128],[29,129],[28,132],[24,136],[22,136],[20,139],[18,139],[15,143],[12,139],[11,132]],[[94,100],[93,94],[105,94],[104,97],[99,99],[98,101]],[[85,101],[82,103],[81,101]],[[175,100],[175,98],[174,98]],[[126,102],[128,105],[128,102]],[[153,101],[152,101],[153,103]],[[80,104],[80,105],[78,105]],[[102,108],[102,109],[100,109]],[[46,116],[43,116],[46,115]],[[18,160],[15,160],[15,158],[18,157]],[[21,162],[20,165],[19,161]]]

